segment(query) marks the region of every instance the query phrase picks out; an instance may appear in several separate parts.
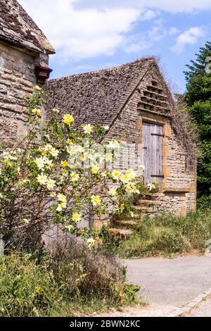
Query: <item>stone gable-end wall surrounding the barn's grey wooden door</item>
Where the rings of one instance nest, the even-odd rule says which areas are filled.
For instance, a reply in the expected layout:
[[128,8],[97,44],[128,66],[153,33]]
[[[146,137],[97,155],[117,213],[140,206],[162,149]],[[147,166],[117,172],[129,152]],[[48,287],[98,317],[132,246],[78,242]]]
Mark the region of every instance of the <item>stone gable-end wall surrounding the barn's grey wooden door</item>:
[[[106,139],[122,139],[129,144],[135,144],[137,152],[142,139],[142,120],[163,125],[165,134],[162,145],[164,179],[160,187],[160,194],[156,199],[160,201],[158,211],[172,211],[184,215],[187,211],[196,209],[196,169],[187,168],[187,151],[172,130],[170,115],[167,111],[164,112],[160,109],[160,113],[158,111],[154,113],[148,109],[138,110],[143,90],[152,79],[163,80],[156,68],[144,77],[139,87],[129,98]],[[170,96],[167,87],[164,86],[163,88],[165,89],[164,94]],[[167,107],[171,106],[170,101]],[[136,158],[134,164],[122,162],[120,170],[126,168],[138,170],[140,163],[143,164],[143,160],[140,158]]]

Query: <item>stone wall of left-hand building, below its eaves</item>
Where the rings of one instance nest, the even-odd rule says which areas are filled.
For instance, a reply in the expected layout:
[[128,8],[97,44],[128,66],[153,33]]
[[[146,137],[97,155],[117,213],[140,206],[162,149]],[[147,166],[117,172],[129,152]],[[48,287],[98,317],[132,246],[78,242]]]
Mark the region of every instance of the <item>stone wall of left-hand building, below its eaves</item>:
[[24,96],[36,84],[34,68],[40,61],[47,65],[48,56],[0,42],[0,134],[8,145],[24,132]]

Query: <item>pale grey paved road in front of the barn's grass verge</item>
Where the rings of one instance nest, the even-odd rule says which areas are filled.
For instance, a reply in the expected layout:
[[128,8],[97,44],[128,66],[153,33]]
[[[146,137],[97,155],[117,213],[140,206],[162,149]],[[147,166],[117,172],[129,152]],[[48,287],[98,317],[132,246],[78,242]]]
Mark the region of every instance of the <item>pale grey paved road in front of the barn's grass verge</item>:
[[211,256],[124,260],[128,280],[150,305],[184,306],[211,287]]

